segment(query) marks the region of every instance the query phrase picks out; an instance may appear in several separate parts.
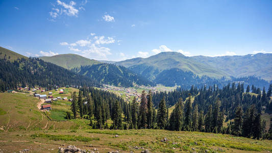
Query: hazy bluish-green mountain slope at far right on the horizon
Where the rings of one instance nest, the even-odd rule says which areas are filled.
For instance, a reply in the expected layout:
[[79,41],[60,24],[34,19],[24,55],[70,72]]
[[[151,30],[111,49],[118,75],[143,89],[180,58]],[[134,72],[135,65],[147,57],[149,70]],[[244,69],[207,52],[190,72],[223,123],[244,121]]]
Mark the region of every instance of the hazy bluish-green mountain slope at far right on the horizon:
[[272,80],[272,54],[190,58],[222,70],[233,77],[255,75],[267,81]]

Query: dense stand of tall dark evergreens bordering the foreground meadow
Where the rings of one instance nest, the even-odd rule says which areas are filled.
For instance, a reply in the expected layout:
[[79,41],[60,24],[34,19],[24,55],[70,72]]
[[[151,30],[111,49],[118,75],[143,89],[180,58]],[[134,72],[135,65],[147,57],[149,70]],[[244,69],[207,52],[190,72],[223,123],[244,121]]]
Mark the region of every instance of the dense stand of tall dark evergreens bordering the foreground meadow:
[[[223,89],[218,89],[216,86],[208,89],[192,87],[186,92],[199,92],[195,94],[194,100],[190,93],[184,98],[185,101],[180,96],[171,113],[168,112],[165,97],[162,97],[155,109],[153,95],[156,96],[156,94],[151,91],[149,93],[142,91],[140,101],[134,98],[132,103],[127,103],[121,97],[108,91],[84,87],[78,95],[72,94],[71,110],[73,116],[89,118],[90,125],[97,129],[201,131],[271,139],[272,127],[268,131],[265,130],[266,123],[261,120],[261,113],[268,112],[268,109],[265,108],[272,103],[270,100],[272,85],[269,86],[267,92],[263,90],[261,95],[244,92],[242,86],[242,84],[237,86],[233,84],[232,87],[228,85]],[[201,95],[203,95],[204,103],[209,104],[207,110],[205,107],[207,104],[202,106],[202,103],[199,103],[198,96]],[[241,96],[240,100],[237,95]],[[227,100],[225,102],[222,100],[228,96],[234,98],[234,106],[231,105],[234,109],[233,118],[229,117],[231,110],[224,107]],[[244,100],[249,97],[251,100]],[[256,103],[252,102],[253,97],[256,97]],[[87,101],[87,104],[84,105],[82,101]],[[262,108],[261,112],[258,111],[258,105]],[[113,121],[110,126],[107,123],[109,119]],[[227,122],[228,119],[233,119],[233,121],[224,126],[224,122]]]

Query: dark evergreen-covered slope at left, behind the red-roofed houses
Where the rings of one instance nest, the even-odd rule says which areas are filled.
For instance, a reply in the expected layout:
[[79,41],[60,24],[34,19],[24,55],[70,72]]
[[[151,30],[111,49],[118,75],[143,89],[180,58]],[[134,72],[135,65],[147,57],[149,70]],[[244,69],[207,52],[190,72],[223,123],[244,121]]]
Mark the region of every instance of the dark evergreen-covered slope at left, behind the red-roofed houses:
[[17,87],[101,86],[98,82],[38,58],[0,59],[0,91]]

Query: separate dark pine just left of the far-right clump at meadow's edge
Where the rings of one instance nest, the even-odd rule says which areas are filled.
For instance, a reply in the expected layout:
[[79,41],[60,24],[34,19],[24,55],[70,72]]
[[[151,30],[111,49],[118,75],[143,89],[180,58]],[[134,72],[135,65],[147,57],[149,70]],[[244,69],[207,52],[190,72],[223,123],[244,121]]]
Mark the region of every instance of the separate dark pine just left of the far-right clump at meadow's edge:
[[240,136],[242,134],[242,123],[243,123],[243,111],[242,108],[239,106],[236,108],[235,118],[234,118],[234,125],[232,128],[233,135]]

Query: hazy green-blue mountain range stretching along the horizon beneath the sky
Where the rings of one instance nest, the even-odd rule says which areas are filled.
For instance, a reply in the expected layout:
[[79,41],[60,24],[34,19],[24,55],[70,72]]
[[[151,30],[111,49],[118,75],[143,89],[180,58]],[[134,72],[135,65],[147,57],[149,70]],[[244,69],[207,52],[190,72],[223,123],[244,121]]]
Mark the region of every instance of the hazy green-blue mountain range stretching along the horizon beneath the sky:
[[[10,58],[11,61],[17,58],[27,59],[2,47],[0,51],[0,57]],[[149,58],[120,62],[90,60],[75,54],[39,58],[100,83],[116,86],[133,86],[136,83],[180,85],[188,88],[191,85],[223,86],[235,81],[245,82],[247,85],[259,84],[261,87],[267,86],[268,82],[272,83],[272,54],[186,57],[177,52],[163,52]]]

